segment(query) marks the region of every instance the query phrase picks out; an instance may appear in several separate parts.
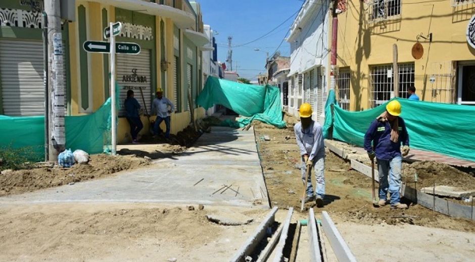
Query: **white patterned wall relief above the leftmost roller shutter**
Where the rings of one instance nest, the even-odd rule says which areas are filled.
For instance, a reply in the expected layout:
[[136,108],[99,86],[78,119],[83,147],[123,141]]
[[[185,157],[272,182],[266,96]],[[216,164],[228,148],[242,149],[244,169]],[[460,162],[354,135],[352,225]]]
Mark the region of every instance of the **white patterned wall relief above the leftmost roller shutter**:
[[0,25],[24,28],[43,28],[43,19],[38,12],[0,8]]

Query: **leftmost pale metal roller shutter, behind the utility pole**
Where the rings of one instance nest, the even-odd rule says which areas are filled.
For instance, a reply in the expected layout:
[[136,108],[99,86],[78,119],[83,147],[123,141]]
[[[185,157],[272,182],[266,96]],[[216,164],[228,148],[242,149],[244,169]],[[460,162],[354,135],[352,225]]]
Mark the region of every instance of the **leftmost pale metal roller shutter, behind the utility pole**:
[[0,38],[0,77],[4,114],[44,115],[43,44]]

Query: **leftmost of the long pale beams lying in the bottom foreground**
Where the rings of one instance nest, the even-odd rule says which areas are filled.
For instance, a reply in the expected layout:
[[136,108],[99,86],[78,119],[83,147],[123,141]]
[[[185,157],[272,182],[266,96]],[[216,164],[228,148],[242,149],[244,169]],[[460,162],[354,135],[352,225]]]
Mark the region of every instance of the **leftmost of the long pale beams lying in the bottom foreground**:
[[250,254],[259,242],[265,237],[267,228],[275,221],[275,213],[278,207],[274,207],[264,218],[261,224],[256,228],[254,233],[246,240],[243,246],[232,256],[229,262],[244,262],[246,255]]

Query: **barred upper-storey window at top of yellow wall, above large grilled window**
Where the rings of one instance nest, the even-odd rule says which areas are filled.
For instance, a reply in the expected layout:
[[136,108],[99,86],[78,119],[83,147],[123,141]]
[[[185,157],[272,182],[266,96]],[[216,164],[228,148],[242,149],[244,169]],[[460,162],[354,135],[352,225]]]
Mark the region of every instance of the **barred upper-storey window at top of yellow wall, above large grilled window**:
[[396,19],[401,16],[401,0],[372,0],[369,2],[369,21]]

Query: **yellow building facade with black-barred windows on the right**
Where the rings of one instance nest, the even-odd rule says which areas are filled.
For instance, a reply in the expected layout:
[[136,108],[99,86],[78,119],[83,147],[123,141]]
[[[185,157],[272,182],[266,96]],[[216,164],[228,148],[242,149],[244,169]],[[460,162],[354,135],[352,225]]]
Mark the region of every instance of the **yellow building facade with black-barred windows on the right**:
[[420,100],[475,104],[475,48],[467,37],[475,35],[475,1],[345,2],[336,69],[343,108],[359,111],[407,98],[411,86]]

